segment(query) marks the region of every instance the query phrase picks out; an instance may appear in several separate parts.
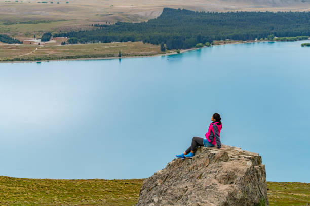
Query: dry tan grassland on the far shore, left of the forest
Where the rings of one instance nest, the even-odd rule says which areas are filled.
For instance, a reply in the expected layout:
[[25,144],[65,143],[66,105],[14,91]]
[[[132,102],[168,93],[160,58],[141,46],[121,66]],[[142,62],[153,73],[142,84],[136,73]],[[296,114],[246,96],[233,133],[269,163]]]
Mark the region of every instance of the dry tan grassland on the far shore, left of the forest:
[[[142,42],[94,43],[78,45],[1,44],[1,61],[40,61],[78,58],[115,58],[163,54],[160,45]],[[169,51],[167,51],[169,52]]]

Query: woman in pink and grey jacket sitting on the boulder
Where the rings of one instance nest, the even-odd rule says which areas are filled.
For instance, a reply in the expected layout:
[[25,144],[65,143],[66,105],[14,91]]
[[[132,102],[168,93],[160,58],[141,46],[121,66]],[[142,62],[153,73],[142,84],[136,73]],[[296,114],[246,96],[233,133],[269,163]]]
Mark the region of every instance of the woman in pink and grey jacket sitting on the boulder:
[[177,158],[192,158],[196,151],[196,147],[198,146],[214,147],[216,144],[218,149],[222,149],[220,140],[222,123],[220,115],[214,113],[211,117],[211,121],[212,123],[210,124],[208,133],[206,133],[205,137],[193,137],[191,140],[191,146],[181,155],[176,155]]

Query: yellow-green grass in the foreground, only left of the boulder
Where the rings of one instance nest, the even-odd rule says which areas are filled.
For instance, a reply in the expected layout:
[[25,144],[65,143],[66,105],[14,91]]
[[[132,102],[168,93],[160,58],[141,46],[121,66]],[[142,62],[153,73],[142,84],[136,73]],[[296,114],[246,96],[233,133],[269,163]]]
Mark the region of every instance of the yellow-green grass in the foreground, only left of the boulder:
[[0,176],[0,205],[134,205],[143,179],[53,180]]

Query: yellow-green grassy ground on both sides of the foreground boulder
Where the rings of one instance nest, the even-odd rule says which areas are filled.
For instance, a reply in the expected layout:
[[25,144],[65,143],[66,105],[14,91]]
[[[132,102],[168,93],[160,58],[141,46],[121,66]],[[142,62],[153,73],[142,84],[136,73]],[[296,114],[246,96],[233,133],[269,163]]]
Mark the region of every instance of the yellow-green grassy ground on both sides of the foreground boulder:
[[[0,176],[0,205],[135,205],[143,180],[53,180]],[[267,184],[270,205],[310,204],[309,183]]]

